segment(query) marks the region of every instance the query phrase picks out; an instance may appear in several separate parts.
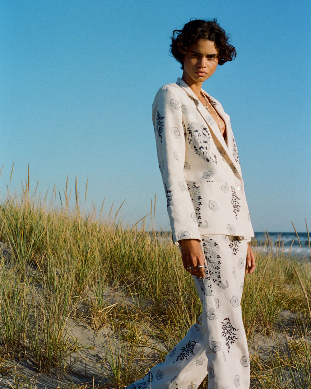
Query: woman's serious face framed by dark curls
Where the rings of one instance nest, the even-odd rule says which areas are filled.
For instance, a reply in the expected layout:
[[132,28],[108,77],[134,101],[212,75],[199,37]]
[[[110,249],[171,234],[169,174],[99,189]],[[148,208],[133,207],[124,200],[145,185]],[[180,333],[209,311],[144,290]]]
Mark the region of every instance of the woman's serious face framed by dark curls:
[[182,79],[189,86],[202,84],[216,70],[218,50],[211,40],[200,39],[190,46],[183,62]]

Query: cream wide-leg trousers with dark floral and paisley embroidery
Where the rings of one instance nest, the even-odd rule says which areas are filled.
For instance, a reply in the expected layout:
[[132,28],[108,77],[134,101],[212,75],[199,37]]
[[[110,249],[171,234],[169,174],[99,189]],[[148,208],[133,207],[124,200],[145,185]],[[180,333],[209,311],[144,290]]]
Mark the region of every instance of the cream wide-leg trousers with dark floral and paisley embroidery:
[[202,235],[205,279],[194,278],[202,314],[186,336],[126,389],[249,389],[250,359],[241,314],[247,241]]

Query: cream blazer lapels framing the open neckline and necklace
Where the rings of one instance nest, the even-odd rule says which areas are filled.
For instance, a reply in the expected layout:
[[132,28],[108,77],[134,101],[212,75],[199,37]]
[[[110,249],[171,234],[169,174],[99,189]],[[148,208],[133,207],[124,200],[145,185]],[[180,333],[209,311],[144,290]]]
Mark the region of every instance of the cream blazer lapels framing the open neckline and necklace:
[[232,164],[233,164],[233,166],[238,171],[239,175],[241,175],[242,174],[241,173],[241,166],[239,165],[239,163],[236,162],[236,160],[234,159],[234,156],[232,154],[232,146],[233,146],[232,145],[232,136],[233,135],[232,135],[231,123],[229,120],[229,116],[224,112],[224,109],[222,108],[222,106],[217,101],[215,102],[215,100],[207,92],[205,92],[203,90],[203,92],[206,93],[206,95],[208,95],[210,97],[211,102],[215,103],[215,109],[217,110],[218,114],[222,117],[222,119],[225,122],[226,131],[227,131],[227,143],[225,142],[224,137],[222,136],[221,132],[219,131],[219,128],[218,128],[217,124],[215,123],[215,121],[208,119],[209,117],[211,117],[211,115],[208,114],[208,111],[206,110],[204,105],[197,100],[197,96],[194,94],[192,89],[185,83],[185,81],[183,81],[180,78],[177,79],[176,84],[179,85],[181,88],[183,88],[186,91],[186,93],[190,96],[191,100],[194,101],[194,103],[197,107],[197,110],[200,112],[201,116],[203,117],[204,121],[206,122],[206,124],[208,125],[210,130],[213,132],[215,137],[217,138],[218,142],[222,145],[222,148],[224,149],[225,154],[227,154],[227,156],[229,157],[229,159],[231,161],[230,165],[232,166]]

